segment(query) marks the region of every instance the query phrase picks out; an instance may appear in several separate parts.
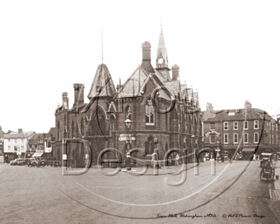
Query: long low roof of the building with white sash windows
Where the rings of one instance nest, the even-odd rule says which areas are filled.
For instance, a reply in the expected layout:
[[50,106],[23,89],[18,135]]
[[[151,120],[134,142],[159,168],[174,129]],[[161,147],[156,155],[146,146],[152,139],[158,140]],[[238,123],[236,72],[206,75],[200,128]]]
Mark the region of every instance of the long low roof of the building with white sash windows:
[[221,121],[221,120],[271,120],[268,113],[260,109],[232,109],[221,111],[203,111],[202,121]]

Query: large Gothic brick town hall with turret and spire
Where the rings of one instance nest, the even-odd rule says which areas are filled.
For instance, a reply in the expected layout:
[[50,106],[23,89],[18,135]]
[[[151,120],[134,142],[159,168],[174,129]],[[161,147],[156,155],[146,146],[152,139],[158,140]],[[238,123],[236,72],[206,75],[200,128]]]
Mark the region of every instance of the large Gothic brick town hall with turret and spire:
[[[83,139],[92,150],[92,162],[104,148],[116,148],[123,159],[129,149],[141,148],[137,158],[151,160],[155,147],[163,160],[171,148],[202,148],[202,115],[198,92],[181,84],[179,66],[169,69],[162,28],[151,64],[151,44],[144,42],[142,62],[123,85],[114,85],[106,64],[99,64],[84,101],[84,85],[73,84],[74,102],[69,106],[62,93],[62,106],[55,111],[52,153],[62,160],[62,139]],[[155,145],[155,139],[158,144]],[[69,164],[83,167],[87,153],[82,144],[67,148]],[[134,156],[132,154],[132,156]],[[189,158],[192,160],[192,158]]]

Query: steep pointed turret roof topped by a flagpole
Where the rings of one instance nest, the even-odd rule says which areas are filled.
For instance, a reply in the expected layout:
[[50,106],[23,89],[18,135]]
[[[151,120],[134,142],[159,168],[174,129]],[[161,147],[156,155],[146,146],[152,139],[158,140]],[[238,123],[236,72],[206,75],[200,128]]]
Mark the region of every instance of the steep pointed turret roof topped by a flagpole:
[[115,85],[106,64],[99,64],[95,73],[92,87],[87,95],[88,99],[92,97],[113,97],[116,92]]

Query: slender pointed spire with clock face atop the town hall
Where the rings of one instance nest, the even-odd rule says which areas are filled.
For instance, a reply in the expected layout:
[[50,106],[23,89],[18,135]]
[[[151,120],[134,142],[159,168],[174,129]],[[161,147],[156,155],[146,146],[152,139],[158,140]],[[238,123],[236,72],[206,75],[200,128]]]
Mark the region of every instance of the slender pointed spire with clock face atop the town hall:
[[155,64],[156,69],[160,71],[162,76],[165,78],[165,81],[170,80],[170,74],[168,67],[168,57],[167,57],[167,49],[165,48],[165,38],[163,37],[162,27],[160,26],[160,39],[158,41],[158,52],[157,59]]

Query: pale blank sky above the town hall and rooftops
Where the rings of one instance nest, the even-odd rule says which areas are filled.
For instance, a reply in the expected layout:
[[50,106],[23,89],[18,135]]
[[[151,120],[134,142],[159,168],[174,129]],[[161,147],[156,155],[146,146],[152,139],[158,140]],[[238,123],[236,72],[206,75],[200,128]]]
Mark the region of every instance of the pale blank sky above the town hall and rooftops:
[[73,83],[85,102],[97,66],[122,83],[155,57],[160,25],[169,66],[197,89],[202,111],[253,108],[280,113],[280,1],[0,1],[0,126],[48,132]]

